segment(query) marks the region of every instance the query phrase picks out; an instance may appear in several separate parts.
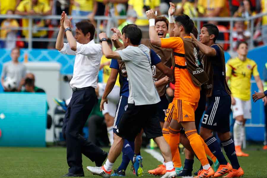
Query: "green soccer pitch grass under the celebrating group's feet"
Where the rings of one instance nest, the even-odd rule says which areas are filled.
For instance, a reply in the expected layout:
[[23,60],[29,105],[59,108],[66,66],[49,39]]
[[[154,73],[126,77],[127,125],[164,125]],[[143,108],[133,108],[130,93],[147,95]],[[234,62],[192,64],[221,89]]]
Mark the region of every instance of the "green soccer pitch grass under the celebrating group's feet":
[[[261,150],[262,146],[249,146],[245,152],[249,157],[239,157],[239,163],[244,169],[244,178],[267,177],[267,150]],[[109,148],[104,148],[108,151]],[[157,150],[157,149],[156,149]],[[143,160],[144,177],[154,177],[149,175],[149,169],[156,168],[160,162],[150,154],[141,151]],[[181,155],[182,163],[185,155]],[[115,162],[113,169],[120,165],[121,155]],[[83,168],[85,177],[95,177],[87,171],[86,166],[95,166],[88,158],[83,156]],[[194,170],[199,169],[200,163],[195,159]],[[131,163],[126,171],[126,177],[136,177],[131,171]],[[68,172],[66,163],[66,148],[47,147],[47,148],[17,148],[0,147],[0,177],[3,178],[29,178],[29,177],[61,177]]]

